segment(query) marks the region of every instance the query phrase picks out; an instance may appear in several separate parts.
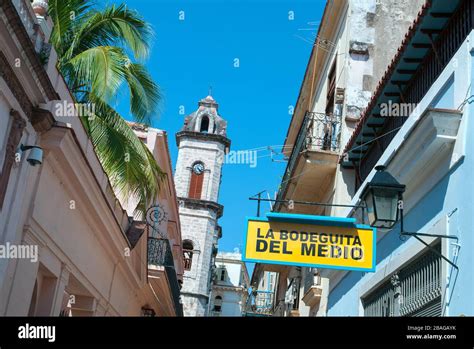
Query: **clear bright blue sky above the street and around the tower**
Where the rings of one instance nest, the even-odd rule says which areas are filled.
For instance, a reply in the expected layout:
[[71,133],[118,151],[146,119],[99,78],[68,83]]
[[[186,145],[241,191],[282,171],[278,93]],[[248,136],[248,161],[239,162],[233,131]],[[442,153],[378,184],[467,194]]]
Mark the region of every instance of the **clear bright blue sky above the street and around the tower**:
[[[298,97],[311,51],[308,41],[316,33],[324,0],[125,2],[152,24],[156,34],[147,66],[164,98],[153,126],[168,132],[173,165],[174,134],[184,120],[179,108],[184,106],[186,114],[196,110],[210,85],[220,115],[228,121],[231,150],[283,144],[289,106]],[[236,58],[239,67],[234,66]],[[128,115],[127,103],[119,103],[119,111]],[[268,150],[258,156],[255,168],[224,166],[221,251],[242,249],[245,217],[256,213],[256,203],[248,198],[262,190],[272,195],[278,190],[286,163],[272,162]],[[262,208],[268,210],[268,203]]]

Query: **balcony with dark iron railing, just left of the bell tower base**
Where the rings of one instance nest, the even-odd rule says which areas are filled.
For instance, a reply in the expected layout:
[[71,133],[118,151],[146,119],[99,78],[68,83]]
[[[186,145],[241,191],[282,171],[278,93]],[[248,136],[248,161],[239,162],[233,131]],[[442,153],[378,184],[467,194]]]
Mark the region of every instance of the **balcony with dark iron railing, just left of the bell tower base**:
[[162,306],[160,315],[183,316],[173,252],[167,239],[148,237],[148,281]]

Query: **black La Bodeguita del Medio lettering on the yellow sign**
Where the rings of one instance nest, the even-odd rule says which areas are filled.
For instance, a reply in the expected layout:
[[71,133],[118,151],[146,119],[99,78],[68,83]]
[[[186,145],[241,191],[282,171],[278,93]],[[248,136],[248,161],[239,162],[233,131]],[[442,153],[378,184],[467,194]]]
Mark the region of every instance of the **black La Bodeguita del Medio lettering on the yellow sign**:
[[[299,242],[299,251],[289,248],[288,242]],[[298,252],[301,256],[353,259],[364,257],[361,240],[357,235],[337,233],[319,233],[305,231],[262,231],[257,228],[256,252],[292,255]]]

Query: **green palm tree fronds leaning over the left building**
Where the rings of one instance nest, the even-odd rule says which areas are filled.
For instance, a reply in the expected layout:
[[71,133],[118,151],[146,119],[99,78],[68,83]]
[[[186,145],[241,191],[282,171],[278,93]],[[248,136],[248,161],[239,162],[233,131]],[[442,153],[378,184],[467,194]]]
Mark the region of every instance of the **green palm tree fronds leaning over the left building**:
[[114,190],[124,198],[137,198],[136,213],[143,215],[164,174],[111,104],[126,86],[135,121],[151,123],[160,94],[139,63],[149,53],[151,27],[123,4],[98,9],[88,0],[50,0],[49,13],[58,68],[76,101],[95,107],[92,117],[81,120],[98,158]]

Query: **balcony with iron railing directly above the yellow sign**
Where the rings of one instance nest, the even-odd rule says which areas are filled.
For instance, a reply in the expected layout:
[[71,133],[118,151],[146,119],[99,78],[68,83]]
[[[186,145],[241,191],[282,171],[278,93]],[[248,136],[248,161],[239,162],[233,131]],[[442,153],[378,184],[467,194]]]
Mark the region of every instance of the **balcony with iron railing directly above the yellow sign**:
[[[341,119],[336,115],[307,112],[296,138],[278,192],[278,200],[324,201],[334,180],[340,150]],[[297,206],[295,204],[295,206]],[[281,204],[275,206],[281,211]],[[321,213],[314,206],[297,207],[298,213]]]

